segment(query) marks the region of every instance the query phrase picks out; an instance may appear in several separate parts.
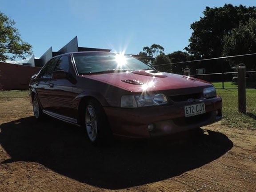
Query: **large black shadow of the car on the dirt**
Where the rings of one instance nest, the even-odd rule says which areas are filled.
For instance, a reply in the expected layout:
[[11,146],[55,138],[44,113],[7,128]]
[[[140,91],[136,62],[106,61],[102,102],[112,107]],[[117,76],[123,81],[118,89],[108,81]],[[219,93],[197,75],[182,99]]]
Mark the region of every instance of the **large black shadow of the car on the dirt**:
[[100,188],[122,189],[169,179],[218,159],[233,143],[207,131],[200,140],[118,140],[96,147],[82,130],[33,116],[0,125],[0,144],[11,156],[1,162],[38,162],[53,171]]

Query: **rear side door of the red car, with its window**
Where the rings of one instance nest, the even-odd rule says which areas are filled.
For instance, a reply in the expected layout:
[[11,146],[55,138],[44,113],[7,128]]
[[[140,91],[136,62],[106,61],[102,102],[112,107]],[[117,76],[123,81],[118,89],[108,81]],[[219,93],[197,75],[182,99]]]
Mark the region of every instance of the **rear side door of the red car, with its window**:
[[36,79],[33,81],[33,87],[36,89],[36,93],[40,104],[43,109],[48,109],[49,105],[49,84],[52,78],[52,72],[55,68],[55,64],[58,58],[52,58],[44,65]]

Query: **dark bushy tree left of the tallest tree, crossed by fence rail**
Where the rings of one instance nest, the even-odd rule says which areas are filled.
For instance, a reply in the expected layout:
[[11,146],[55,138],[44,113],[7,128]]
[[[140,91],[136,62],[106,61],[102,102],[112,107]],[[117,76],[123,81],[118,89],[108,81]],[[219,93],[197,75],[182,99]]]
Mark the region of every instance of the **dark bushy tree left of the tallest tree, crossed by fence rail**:
[[[167,55],[171,63],[180,63],[188,60],[192,60],[191,56],[187,52],[176,51]],[[177,74],[183,74],[184,68],[187,68],[185,64],[172,64],[172,72]]]

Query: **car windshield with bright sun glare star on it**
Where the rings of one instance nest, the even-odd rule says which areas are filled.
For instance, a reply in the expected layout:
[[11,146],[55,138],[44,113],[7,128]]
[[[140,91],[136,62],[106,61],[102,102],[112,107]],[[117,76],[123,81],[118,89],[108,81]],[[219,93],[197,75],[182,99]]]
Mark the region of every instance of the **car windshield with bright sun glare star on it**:
[[100,72],[123,72],[153,69],[149,65],[128,55],[108,52],[73,54],[80,75]]

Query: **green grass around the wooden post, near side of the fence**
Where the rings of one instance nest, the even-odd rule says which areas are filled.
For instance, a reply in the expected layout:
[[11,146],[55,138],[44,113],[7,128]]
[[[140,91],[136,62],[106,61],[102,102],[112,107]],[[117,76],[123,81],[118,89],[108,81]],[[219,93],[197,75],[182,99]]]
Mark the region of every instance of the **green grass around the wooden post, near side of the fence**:
[[238,112],[238,93],[236,89],[217,89],[222,97],[222,124],[231,128],[256,130],[256,90],[246,90],[247,114]]

